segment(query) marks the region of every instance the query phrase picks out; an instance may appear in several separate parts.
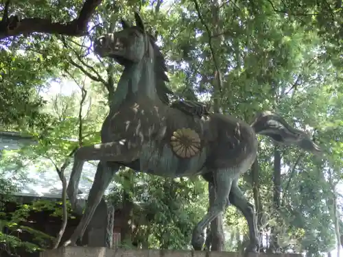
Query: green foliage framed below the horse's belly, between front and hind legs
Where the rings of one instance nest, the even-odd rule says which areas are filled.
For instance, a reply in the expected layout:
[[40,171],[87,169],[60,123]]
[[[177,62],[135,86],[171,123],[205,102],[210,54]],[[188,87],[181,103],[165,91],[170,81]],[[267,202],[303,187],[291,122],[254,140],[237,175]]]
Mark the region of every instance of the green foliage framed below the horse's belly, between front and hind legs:
[[137,226],[134,243],[157,249],[189,249],[194,225],[206,212],[204,182],[123,171],[115,182],[110,201],[120,207],[124,193],[128,193],[130,201],[137,204],[132,214],[132,222]]

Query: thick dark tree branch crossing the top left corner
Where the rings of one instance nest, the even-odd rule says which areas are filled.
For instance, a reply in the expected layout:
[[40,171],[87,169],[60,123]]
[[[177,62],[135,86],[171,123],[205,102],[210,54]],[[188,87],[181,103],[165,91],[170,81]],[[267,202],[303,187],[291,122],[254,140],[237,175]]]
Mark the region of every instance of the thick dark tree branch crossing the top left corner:
[[[9,1],[6,2],[6,5],[8,3]],[[78,18],[67,23],[52,23],[49,18],[27,18],[20,21],[18,16],[12,16],[16,19],[8,19],[7,10],[5,9],[3,12],[5,19],[2,19],[0,22],[0,40],[21,34],[25,34],[26,36],[34,32],[66,36],[84,36],[87,33],[87,23],[95,12],[95,8],[100,3],[102,3],[102,0],[86,0]]]

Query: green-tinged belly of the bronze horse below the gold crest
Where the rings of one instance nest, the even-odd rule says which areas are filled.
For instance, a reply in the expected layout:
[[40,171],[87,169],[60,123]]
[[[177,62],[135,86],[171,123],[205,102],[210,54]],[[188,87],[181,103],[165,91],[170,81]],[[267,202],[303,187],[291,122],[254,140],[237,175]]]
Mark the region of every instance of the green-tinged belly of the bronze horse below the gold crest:
[[206,149],[193,158],[179,158],[169,145],[160,149],[153,142],[145,143],[141,150],[141,171],[166,178],[196,175],[206,160]]

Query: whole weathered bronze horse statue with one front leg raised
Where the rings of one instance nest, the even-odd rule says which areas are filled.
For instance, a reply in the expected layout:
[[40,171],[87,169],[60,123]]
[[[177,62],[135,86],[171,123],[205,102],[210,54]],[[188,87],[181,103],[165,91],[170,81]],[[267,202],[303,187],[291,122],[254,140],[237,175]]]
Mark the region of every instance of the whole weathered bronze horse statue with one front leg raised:
[[214,182],[217,197],[193,230],[193,248],[202,249],[206,225],[233,204],[248,222],[250,245],[246,251],[256,252],[259,240],[254,206],[238,186],[239,176],[250,169],[257,156],[256,134],[313,153],[319,153],[320,148],[273,112],[258,114],[249,125],[201,108],[194,115],[192,107],[201,106],[198,103],[191,106],[180,101],[171,105],[165,59],[156,39],[147,34],[139,13],[134,16],[135,26],[121,21],[121,31],[100,36],[94,42],[95,53],[113,58],[124,70],[102,125],[102,143],[75,152],[67,188],[73,208],[80,208],[76,194],[84,162],[99,160],[99,164],[84,215],[64,245],[75,245],[84,234],[113,175],[125,166],[165,178],[202,175]]

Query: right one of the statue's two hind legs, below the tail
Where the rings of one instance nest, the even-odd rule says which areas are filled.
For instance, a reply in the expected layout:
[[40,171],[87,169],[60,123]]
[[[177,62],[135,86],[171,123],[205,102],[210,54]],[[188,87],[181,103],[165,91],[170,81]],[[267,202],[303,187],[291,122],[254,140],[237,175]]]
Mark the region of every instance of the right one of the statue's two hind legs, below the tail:
[[246,196],[238,186],[237,180],[233,181],[228,199],[230,204],[242,212],[248,223],[250,244],[246,247],[246,253],[257,252],[259,247],[259,236],[257,232],[257,219],[254,206],[249,203],[248,199],[246,199]]

